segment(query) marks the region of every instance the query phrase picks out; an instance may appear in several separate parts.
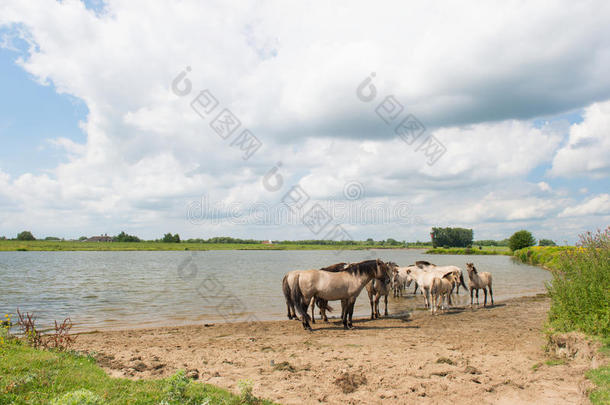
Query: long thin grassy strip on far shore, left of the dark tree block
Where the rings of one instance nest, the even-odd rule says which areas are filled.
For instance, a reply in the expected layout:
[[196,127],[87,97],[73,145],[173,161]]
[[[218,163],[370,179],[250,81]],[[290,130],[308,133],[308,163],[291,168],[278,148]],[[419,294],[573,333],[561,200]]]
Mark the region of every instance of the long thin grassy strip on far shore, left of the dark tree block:
[[163,243],[163,242],[78,242],[0,240],[0,251],[156,251],[156,250],[365,250],[392,249],[384,245],[310,245],[262,243]]

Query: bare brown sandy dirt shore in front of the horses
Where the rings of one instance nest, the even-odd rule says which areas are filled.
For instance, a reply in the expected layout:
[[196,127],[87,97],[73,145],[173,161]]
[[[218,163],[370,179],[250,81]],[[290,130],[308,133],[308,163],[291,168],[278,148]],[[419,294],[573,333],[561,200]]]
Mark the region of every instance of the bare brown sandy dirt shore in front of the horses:
[[76,349],[96,352],[114,376],[186,369],[234,392],[250,379],[255,395],[283,404],[588,403],[583,375],[595,359],[549,361],[548,307],[546,297],[518,298],[360,319],[349,331],[337,320],[318,321],[313,332],[285,320],[94,332]]

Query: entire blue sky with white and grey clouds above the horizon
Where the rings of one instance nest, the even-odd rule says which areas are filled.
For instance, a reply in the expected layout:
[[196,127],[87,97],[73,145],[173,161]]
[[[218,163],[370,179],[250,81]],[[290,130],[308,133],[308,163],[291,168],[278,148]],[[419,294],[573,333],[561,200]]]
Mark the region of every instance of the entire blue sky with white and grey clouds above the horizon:
[[608,21],[606,1],[3,0],[0,235],[574,242],[610,223]]

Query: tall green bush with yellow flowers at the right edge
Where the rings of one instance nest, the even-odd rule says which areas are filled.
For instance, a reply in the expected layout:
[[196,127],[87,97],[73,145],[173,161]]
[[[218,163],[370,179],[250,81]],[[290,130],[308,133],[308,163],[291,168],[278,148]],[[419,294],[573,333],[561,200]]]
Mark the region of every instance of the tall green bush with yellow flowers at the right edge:
[[[552,248],[551,248],[552,249]],[[581,236],[575,249],[559,255],[553,279],[549,322],[560,332],[610,334],[610,227]]]

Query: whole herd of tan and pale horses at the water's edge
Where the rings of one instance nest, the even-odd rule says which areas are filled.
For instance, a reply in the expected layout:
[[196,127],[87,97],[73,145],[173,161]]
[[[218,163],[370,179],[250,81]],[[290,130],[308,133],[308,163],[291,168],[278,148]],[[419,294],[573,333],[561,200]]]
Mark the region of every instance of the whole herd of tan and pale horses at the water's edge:
[[[371,305],[371,319],[379,318],[379,301],[385,297],[384,316],[388,316],[388,296],[395,297],[415,283],[413,293],[419,288],[424,305],[432,313],[439,307],[447,310],[454,290],[459,294],[460,286],[470,289],[470,306],[476,293],[479,305],[479,290],[485,293],[483,306],[487,306],[487,293],[493,305],[492,277],[488,272],[478,272],[473,263],[466,264],[469,287],[464,283],[462,270],[457,266],[436,266],[427,261],[400,267],[394,262],[380,259],[359,263],[337,263],[332,266],[312,270],[293,270],[284,276],[282,291],[286,299],[288,319],[301,317],[303,328],[311,330],[310,320],[315,323],[314,310],[317,306],[322,319],[328,322],[326,312],[333,309],[329,301],[341,301],[341,321],[345,329],[353,328],[352,317],[356,298],[366,288]],[[311,307],[311,317],[308,310]]]

